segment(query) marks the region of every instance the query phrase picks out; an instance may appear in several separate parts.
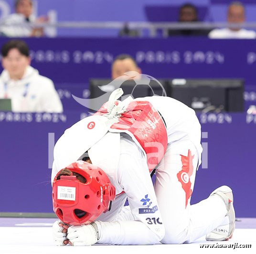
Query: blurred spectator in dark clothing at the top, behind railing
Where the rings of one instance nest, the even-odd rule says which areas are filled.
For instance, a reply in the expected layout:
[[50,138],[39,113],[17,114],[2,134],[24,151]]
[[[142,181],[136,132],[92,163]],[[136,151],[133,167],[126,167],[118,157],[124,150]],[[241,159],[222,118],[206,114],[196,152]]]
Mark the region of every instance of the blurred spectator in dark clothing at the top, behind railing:
[[[179,22],[197,22],[198,13],[197,8],[190,4],[186,3],[180,8],[180,17]],[[181,29],[181,30],[169,30],[169,36],[207,36],[209,30],[205,29]]]

